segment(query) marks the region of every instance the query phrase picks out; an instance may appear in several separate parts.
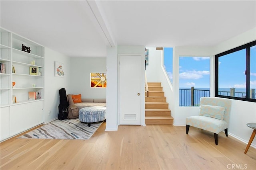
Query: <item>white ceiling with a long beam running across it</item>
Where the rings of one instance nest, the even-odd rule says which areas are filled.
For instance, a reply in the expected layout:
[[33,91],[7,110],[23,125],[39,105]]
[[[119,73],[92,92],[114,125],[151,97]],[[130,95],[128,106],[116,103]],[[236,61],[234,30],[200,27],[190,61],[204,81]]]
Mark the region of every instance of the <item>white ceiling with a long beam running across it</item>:
[[[256,27],[256,1],[0,1],[0,24],[70,57],[106,46],[212,46]],[[256,37],[255,37],[256,38]]]

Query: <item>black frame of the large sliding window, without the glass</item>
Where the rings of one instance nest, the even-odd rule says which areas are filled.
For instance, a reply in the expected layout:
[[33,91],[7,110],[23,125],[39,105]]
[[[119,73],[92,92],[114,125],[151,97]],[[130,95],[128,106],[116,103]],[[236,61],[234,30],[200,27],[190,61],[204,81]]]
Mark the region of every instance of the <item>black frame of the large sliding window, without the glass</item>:
[[[252,98],[249,98],[249,95],[250,94],[250,47],[253,47],[256,45],[256,40],[250,42],[250,43],[247,43],[247,44],[244,44],[244,45],[241,45],[239,47],[236,47],[234,49],[230,49],[228,51],[224,51],[222,53],[219,53],[217,55],[215,55],[215,81],[214,81],[214,84],[215,84],[215,89],[214,89],[214,94],[215,94],[215,97],[219,97],[219,98],[228,98],[228,99],[234,99],[234,100],[243,100],[243,101],[248,101],[248,102],[256,102],[256,99],[252,99]],[[218,94],[218,85],[219,85],[219,82],[218,82],[218,72],[219,72],[219,57],[222,57],[224,55],[228,55],[230,53],[234,53],[236,51],[240,51],[242,49],[246,49],[246,98],[240,98],[240,97],[234,97],[234,96],[223,96],[223,95],[219,95]]]

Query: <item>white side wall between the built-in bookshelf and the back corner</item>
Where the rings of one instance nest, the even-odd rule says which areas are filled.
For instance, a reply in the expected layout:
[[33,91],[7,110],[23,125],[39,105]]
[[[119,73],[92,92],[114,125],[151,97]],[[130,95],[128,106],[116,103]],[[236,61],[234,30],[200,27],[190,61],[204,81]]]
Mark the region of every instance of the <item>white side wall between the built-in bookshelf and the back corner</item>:
[[[48,47],[45,47],[44,57],[44,122],[47,123],[58,117],[59,90],[65,88],[67,94],[70,92],[68,84],[72,75],[70,73],[70,57],[53,51]],[[64,77],[54,76],[54,61],[63,63]]]

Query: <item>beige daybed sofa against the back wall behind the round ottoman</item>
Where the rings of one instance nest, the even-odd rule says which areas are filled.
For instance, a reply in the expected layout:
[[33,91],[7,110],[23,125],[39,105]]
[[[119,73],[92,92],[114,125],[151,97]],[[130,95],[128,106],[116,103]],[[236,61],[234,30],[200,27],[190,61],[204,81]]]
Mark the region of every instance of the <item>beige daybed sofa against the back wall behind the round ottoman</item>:
[[[80,98],[79,95],[73,95],[73,94],[68,94],[68,103],[69,105],[76,105],[78,109],[82,109],[84,107],[89,107],[89,106],[105,106],[106,107],[106,99],[86,99],[86,98]],[[76,102],[73,101],[72,96],[78,96],[78,100]],[[81,96],[81,95],[80,95]],[[76,100],[74,98],[74,100]]]

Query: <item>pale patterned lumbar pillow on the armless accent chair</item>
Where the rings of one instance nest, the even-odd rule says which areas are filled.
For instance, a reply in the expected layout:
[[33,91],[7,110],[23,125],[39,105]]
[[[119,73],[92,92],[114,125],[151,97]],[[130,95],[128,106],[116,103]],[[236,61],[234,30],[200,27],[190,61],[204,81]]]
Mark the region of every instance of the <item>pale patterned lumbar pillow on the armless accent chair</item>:
[[223,120],[225,113],[225,107],[212,106],[212,105],[200,105],[199,115],[213,117]]

